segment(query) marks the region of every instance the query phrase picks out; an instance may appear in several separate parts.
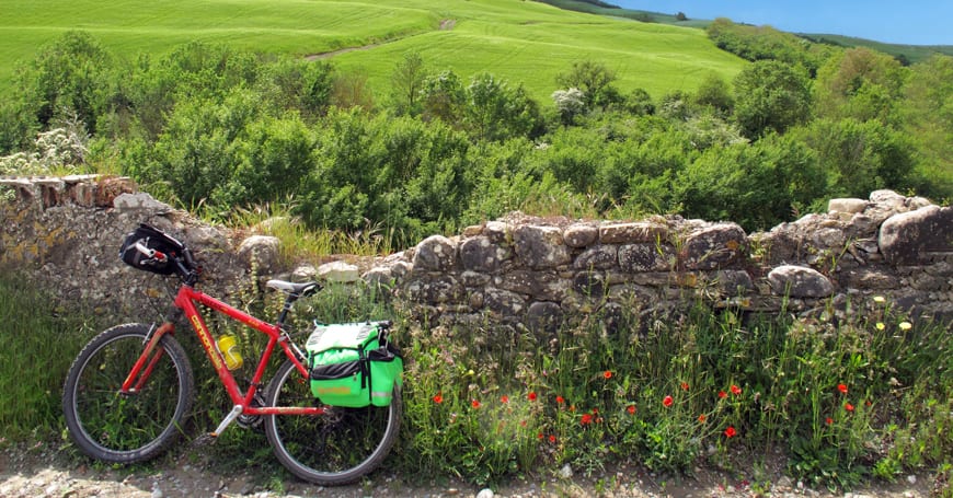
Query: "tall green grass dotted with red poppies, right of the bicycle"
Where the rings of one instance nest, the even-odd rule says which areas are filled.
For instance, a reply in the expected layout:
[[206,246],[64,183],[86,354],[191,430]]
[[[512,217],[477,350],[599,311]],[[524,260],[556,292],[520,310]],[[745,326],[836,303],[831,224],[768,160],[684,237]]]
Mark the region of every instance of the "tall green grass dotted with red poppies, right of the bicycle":
[[702,306],[619,328],[592,319],[542,337],[416,333],[405,463],[487,482],[629,460],[733,471],[780,450],[791,475],[830,488],[951,463],[943,324],[886,303],[838,324]]

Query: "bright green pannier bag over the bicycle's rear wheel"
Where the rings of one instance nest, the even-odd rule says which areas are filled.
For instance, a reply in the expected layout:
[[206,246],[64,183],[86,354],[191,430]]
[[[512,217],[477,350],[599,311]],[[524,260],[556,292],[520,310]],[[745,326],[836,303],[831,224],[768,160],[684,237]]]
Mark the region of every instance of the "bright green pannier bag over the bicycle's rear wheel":
[[404,370],[400,350],[387,337],[390,325],[315,324],[305,345],[311,394],[331,406],[389,406]]

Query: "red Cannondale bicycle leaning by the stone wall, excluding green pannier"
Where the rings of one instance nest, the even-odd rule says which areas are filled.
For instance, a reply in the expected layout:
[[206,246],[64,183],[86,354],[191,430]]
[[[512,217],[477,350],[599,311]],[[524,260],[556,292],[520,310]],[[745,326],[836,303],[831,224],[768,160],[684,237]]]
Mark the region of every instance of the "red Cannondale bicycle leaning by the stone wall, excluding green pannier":
[[[217,437],[236,420],[244,427],[263,425],[285,467],[325,486],[354,483],[388,455],[402,414],[399,380],[382,407],[329,406],[309,389],[308,354],[291,338],[285,320],[298,299],[321,290],[318,282],[268,280],[266,287],[287,294],[277,319],[268,323],[197,290],[202,271],[192,252],[152,227],[140,224],[126,239],[120,256],[139,269],[175,275],[180,285],[162,324],[111,327],[90,340],[72,362],[64,385],[64,415],[72,441],[83,453],[108,463],[141,462],[168,450],[183,433],[195,391],[192,364],[173,336],[174,323],[184,315],[233,404],[209,436]],[[267,336],[244,391],[197,304]],[[384,337],[391,327],[391,322],[369,324]],[[276,348],[285,361],[262,391]]]

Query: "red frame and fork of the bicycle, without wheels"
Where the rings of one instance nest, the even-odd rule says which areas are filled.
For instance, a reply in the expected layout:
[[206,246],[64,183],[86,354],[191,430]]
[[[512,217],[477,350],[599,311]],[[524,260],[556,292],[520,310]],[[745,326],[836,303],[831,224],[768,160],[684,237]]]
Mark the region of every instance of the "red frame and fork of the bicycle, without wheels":
[[[195,305],[196,303],[210,308],[219,313],[229,316],[232,320],[237,320],[245,324],[246,326],[268,336],[268,344],[267,346],[265,346],[265,349],[262,352],[259,364],[255,368],[255,373],[252,377],[251,384],[249,385],[249,389],[244,394],[242,394],[238,382],[236,382],[234,377],[231,374],[231,371],[226,367],[225,358],[222,358],[221,352],[218,350],[211,333],[208,332],[208,327],[206,327],[205,325],[205,320],[203,320],[202,315],[198,313],[198,309]],[[280,329],[279,325],[262,322],[261,320],[237,308],[226,304],[225,302],[219,301],[211,296],[195,290],[188,285],[182,285],[179,287],[179,293],[175,296],[174,304],[176,308],[181,309],[185,313],[185,317],[188,320],[188,323],[192,324],[192,328],[194,328],[195,333],[198,335],[198,340],[199,343],[202,343],[202,347],[205,348],[205,352],[206,355],[208,355],[208,359],[211,360],[211,364],[213,367],[215,367],[215,371],[218,373],[219,379],[221,379],[221,382],[225,385],[225,389],[228,392],[232,404],[234,405],[231,414],[229,414],[229,417],[226,418],[225,421],[222,421],[222,424],[219,426],[219,429],[216,430],[216,432],[213,432],[213,435],[221,432],[225,426],[227,426],[232,419],[234,419],[234,417],[240,414],[321,415],[324,413],[324,408],[317,406],[251,406],[255,393],[261,386],[262,378],[265,374],[265,367],[267,366],[268,359],[271,358],[272,352],[274,352],[276,345],[279,345],[285,351],[285,356],[295,363],[298,372],[301,374],[300,381],[308,381],[308,369],[305,367],[303,363],[301,363],[301,360],[299,360],[298,354],[295,349],[292,349],[292,345],[289,344],[290,341],[288,336]],[[165,322],[156,329],[156,333],[152,335],[149,344],[146,345],[146,349],[142,351],[142,355],[139,356],[139,359],[133,366],[129,375],[126,378],[125,382],[123,382],[122,393],[134,394],[142,387],[142,385],[146,383],[146,380],[149,378],[149,374],[152,372],[153,367],[158,363],[162,355],[161,348],[158,349],[158,352],[153,355],[153,352],[157,351],[156,346],[165,334],[172,334],[174,333],[174,329],[175,326],[172,324],[172,322]]]

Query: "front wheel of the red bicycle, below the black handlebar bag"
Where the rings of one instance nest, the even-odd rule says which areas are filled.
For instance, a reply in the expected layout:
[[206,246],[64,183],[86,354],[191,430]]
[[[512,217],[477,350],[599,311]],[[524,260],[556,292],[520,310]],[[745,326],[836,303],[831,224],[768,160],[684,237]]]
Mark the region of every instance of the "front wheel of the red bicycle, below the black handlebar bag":
[[163,336],[156,347],[157,360],[141,389],[119,393],[145,350],[149,331],[143,324],[108,328],[69,369],[62,412],[71,439],[89,456],[112,463],[149,460],[181,431],[192,407],[194,380],[188,357],[172,336]]

